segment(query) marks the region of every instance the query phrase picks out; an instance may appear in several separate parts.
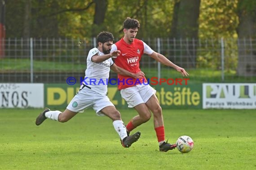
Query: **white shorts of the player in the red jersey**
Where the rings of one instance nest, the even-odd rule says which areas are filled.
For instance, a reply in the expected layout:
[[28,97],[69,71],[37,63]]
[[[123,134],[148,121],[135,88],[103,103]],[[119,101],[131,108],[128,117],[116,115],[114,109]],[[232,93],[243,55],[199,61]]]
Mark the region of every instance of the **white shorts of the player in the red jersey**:
[[136,85],[121,89],[120,91],[128,107],[135,107],[138,104],[146,103],[155,92],[156,90],[150,85]]

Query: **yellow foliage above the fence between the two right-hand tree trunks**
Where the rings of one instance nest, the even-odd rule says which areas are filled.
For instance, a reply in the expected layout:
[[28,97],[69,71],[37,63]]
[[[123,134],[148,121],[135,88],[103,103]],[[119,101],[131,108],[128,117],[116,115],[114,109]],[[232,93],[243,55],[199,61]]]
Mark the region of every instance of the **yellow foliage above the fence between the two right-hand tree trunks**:
[[199,38],[236,38],[238,0],[202,0]]

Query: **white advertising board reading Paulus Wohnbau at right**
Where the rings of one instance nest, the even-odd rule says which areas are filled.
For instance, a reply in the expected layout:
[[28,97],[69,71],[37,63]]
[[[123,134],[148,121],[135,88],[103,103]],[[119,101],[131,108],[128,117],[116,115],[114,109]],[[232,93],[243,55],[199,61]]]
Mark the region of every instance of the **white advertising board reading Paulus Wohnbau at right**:
[[256,109],[256,83],[203,83],[203,109]]

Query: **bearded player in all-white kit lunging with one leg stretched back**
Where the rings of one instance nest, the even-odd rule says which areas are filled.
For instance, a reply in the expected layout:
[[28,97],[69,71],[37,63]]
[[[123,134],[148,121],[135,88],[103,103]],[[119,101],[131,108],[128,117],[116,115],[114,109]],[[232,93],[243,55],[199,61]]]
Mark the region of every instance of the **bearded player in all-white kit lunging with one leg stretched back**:
[[128,148],[139,139],[141,132],[136,132],[132,136],[127,135],[126,127],[119,111],[116,110],[106,95],[106,82],[109,78],[110,69],[118,74],[136,79],[144,76],[144,73],[131,73],[113,63],[112,57],[117,57],[120,53],[118,50],[110,53],[113,40],[114,37],[109,32],[101,32],[97,35],[97,48],[91,49],[88,53],[85,78],[77,94],[63,112],[59,110],[51,111],[46,108],[38,115],[35,121],[36,125],[40,125],[47,118],[59,122],[67,122],[79,111],[93,107],[97,115],[106,115],[113,120],[113,126],[119,134],[123,147]]

